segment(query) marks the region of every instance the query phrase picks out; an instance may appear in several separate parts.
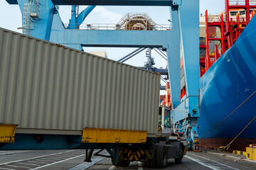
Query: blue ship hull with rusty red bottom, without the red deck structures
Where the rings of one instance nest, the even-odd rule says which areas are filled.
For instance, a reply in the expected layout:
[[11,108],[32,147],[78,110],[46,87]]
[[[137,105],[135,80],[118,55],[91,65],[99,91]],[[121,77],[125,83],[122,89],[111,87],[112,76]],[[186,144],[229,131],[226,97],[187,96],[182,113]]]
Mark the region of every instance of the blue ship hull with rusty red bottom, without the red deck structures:
[[[201,77],[199,137],[238,108],[256,91],[256,17],[252,18],[233,47],[225,52]],[[233,115],[201,140],[202,147],[228,145],[256,115],[256,93]],[[256,120],[235,140],[230,149],[256,143]]]

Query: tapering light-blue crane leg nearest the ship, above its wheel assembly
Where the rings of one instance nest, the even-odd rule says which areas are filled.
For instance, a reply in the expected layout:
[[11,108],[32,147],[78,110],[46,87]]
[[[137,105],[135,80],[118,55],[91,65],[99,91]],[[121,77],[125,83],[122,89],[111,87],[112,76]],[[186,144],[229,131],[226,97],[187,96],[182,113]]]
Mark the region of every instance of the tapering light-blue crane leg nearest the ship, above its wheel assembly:
[[186,82],[186,95],[198,100],[199,0],[183,1],[182,5],[179,6],[178,14],[181,29],[181,52]]

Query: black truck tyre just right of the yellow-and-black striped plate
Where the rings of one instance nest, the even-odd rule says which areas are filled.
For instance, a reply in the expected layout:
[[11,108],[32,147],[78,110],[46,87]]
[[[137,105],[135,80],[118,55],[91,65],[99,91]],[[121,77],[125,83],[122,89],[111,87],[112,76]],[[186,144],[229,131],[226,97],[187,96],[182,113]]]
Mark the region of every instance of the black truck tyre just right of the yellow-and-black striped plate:
[[159,145],[156,149],[156,166],[165,168],[168,164],[168,149],[164,145]]

